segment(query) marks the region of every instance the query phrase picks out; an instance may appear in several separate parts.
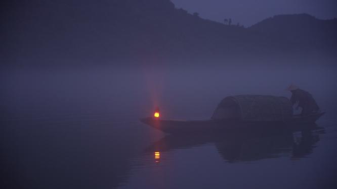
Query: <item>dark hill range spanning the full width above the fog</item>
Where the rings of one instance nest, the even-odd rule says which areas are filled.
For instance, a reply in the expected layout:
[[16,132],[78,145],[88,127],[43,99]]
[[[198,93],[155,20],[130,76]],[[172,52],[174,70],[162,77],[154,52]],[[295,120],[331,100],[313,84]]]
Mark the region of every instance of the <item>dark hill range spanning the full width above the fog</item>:
[[14,0],[3,4],[6,62],[155,64],[159,60],[336,54],[336,19],[281,15],[243,28],[191,15],[169,0]]

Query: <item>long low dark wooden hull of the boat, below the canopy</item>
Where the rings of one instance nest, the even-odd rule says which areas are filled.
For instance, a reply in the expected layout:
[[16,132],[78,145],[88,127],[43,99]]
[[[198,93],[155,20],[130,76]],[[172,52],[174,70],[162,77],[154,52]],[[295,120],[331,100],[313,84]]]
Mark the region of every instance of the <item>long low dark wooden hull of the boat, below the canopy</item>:
[[[143,123],[169,134],[186,133],[219,133],[219,132],[261,132],[275,129],[301,130],[315,127],[315,121],[324,112],[308,116],[294,116],[291,120],[284,121],[242,121],[239,119],[223,120],[161,120],[152,117],[140,119]],[[311,126],[312,125],[312,126]],[[276,131],[276,130],[275,130]]]

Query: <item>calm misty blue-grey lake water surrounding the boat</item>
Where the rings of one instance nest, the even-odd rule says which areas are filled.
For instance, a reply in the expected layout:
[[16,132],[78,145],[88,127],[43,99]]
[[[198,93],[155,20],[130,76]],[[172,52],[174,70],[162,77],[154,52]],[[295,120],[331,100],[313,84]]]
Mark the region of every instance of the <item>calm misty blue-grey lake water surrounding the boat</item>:
[[[3,69],[2,169],[20,188],[337,188],[333,66]],[[139,121],[208,119],[226,96],[290,97],[319,130],[263,137],[165,135]]]

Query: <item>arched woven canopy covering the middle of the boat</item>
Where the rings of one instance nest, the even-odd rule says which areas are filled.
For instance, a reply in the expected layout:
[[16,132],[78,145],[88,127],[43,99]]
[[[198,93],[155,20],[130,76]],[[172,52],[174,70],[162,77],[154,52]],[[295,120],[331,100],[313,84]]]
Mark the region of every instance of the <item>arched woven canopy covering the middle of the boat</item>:
[[228,96],[219,103],[212,119],[231,118],[243,121],[287,121],[292,118],[292,105],[286,97]]

